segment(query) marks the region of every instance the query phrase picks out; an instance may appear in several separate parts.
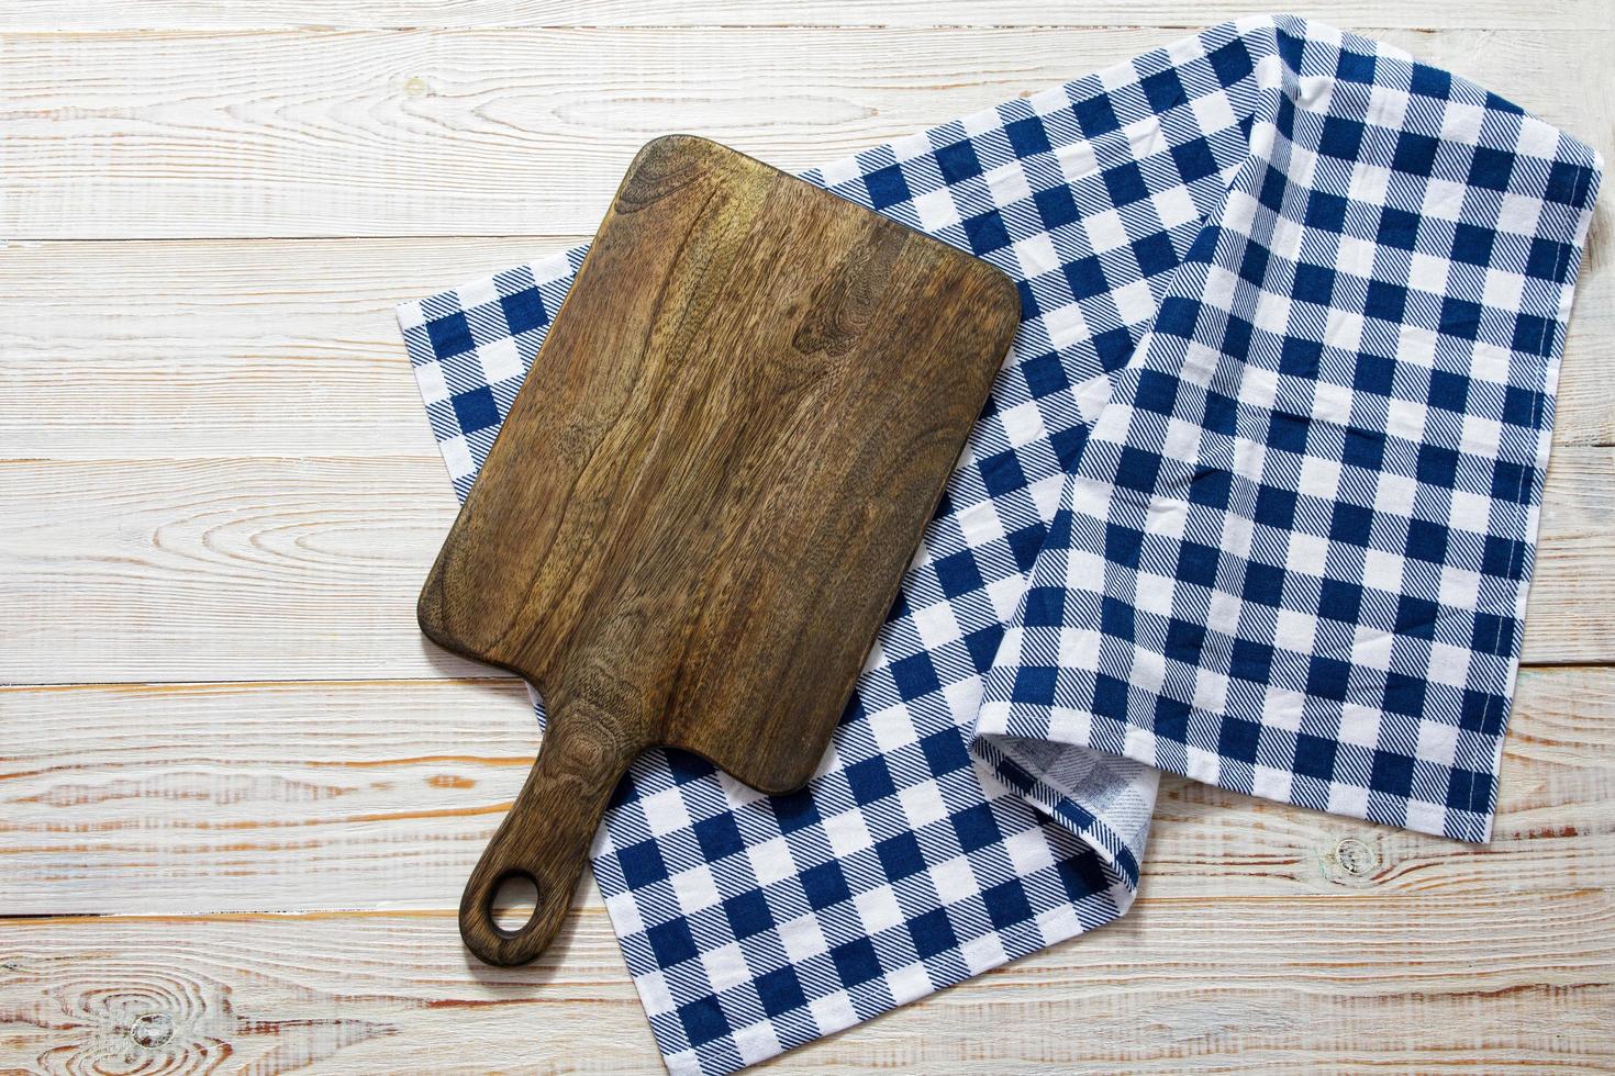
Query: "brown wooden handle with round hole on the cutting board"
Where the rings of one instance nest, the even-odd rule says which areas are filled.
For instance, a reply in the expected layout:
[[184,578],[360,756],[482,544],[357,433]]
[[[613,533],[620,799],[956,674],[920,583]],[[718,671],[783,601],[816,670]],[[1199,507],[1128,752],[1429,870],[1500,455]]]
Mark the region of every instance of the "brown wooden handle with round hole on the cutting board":
[[[549,947],[606,803],[644,747],[588,703],[551,713],[538,761],[460,897],[460,937],[478,958],[512,968]],[[538,902],[526,923],[507,931],[494,921],[494,897],[507,879],[523,876],[538,887]]]

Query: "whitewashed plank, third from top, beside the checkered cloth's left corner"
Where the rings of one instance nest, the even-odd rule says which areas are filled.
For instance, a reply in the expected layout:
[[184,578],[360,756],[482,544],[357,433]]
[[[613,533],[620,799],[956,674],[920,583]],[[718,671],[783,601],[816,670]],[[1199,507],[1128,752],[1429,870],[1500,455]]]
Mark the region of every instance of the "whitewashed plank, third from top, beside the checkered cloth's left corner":
[[[1576,290],[1558,445],[1615,444],[1602,236]],[[0,303],[26,313],[0,319],[0,457],[426,453],[392,307],[585,240],[11,244]]]

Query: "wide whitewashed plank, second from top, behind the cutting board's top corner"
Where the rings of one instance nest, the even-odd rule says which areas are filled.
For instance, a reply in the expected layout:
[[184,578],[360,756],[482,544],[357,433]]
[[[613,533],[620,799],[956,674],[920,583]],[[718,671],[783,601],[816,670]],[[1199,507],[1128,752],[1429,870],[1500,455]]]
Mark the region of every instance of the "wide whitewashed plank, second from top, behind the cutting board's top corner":
[[[18,34],[10,239],[591,232],[690,131],[806,168],[1168,44],[1163,29]],[[1612,31],[1387,31],[1612,155]],[[1575,87],[1575,92],[1565,92]]]

